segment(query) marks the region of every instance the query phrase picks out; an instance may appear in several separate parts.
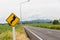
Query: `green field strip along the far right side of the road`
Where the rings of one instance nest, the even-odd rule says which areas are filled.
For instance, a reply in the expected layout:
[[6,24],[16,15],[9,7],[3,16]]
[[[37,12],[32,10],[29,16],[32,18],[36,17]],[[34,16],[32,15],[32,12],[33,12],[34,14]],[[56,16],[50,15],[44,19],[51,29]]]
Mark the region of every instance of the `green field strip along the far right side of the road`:
[[60,25],[53,25],[52,23],[33,23],[33,24],[28,24],[30,26],[35,26],[35,27],[41,27],[41,28],[49,28],[49,29],[56,29],[60,30]]

